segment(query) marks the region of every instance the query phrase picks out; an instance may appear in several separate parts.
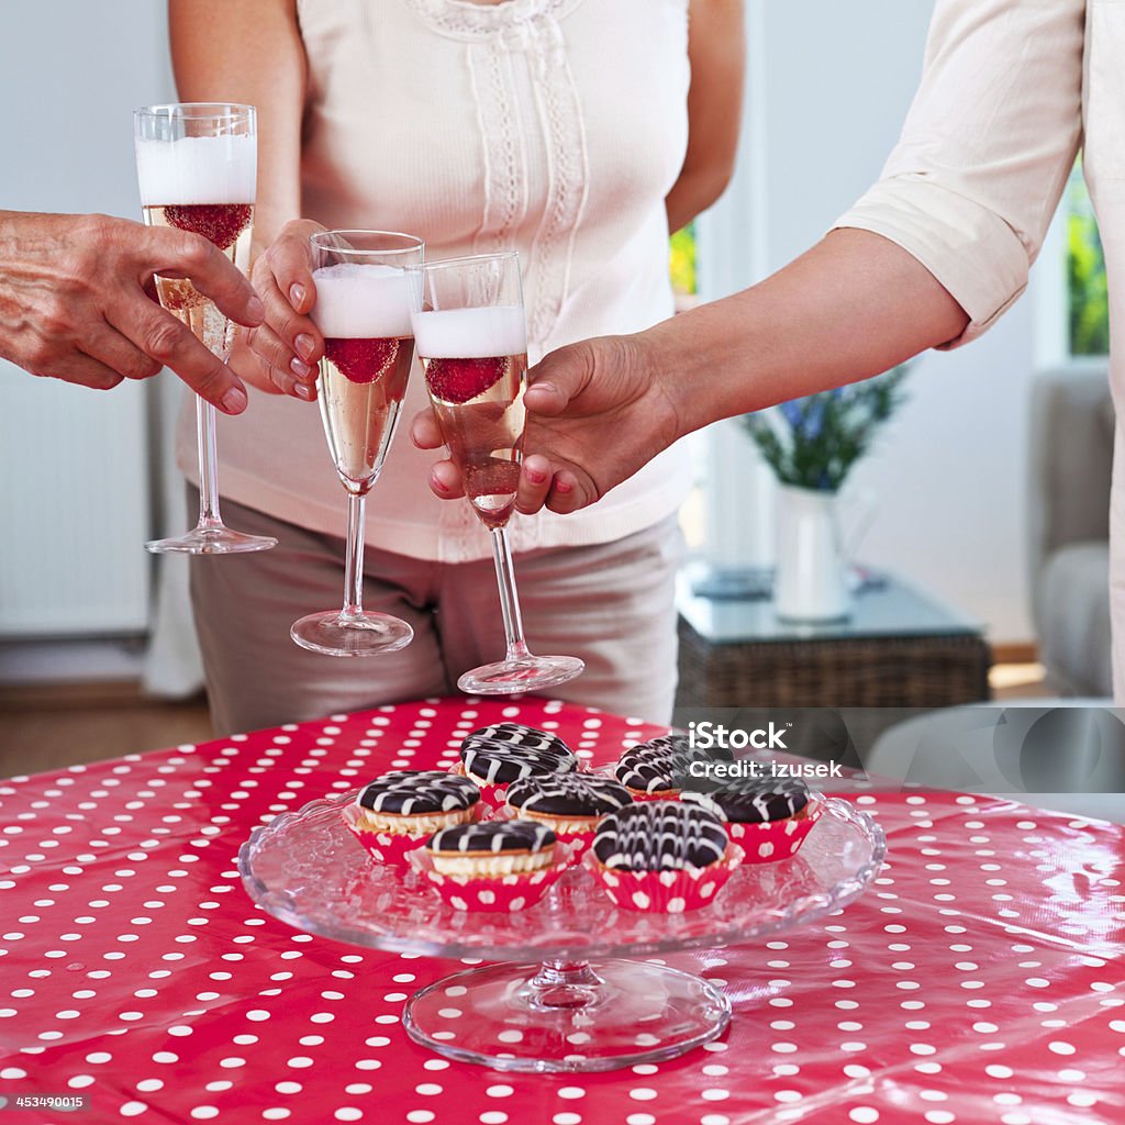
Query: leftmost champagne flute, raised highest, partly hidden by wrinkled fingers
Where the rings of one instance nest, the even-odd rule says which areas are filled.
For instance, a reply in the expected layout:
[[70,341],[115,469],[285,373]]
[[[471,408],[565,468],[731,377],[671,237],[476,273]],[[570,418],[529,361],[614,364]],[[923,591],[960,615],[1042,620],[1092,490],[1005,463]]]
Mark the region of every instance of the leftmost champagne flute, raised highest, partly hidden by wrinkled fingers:
[[[210,240],[244,273],[254,222],[258,141],[253,106],[197,102],[147,106],[133,115],[137,180],[147,226],[172,226]],[[235,325],[186,278],[156,277],[161,305],[225,363]],[[230,555],[277,546],[223,523],[218,506],[215,407],[196,396],[199,521],[192,531],[145,543],[155,554]]]

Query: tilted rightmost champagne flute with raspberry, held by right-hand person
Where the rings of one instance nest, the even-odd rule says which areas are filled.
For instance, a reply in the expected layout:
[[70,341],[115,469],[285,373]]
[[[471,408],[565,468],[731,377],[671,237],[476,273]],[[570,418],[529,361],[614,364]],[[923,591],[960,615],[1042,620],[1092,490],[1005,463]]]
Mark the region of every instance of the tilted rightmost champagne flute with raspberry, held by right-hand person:
[[507,640],[503,660],[466,672],[457,686],[477,695],[514,695],[565,684],[585,665],[528,649],[507,540],[523,459],[528,372],[519,255],[454,258],[407,272],[430,402],[468,502],[492,532]]

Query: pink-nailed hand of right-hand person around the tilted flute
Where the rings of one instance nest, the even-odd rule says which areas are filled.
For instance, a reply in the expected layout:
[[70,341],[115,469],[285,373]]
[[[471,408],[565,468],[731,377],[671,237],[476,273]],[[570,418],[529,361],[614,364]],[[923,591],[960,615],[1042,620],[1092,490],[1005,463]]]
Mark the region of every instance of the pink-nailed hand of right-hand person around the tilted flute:
[[[529,371],[519,511],[586,507],[683,435],[675,396],[648,350],[644,336],[598,336],[560,348]],[[411,438],[420,449],[441,447],[432,412],[414,418]],[[464,495],[452,461],[433,467],[430,488],[442,500]]]

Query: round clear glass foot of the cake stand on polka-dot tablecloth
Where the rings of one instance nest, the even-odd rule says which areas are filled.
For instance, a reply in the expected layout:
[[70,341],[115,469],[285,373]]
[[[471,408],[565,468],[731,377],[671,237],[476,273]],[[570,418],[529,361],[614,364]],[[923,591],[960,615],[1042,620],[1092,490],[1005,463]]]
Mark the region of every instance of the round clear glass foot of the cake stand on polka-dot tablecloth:
[[415,992],[403,1016],[411,1038],[431,1051],[533,1073],[674,1059],[722,1034],[729,1022],[730,1004],[708,981],[618,960],[454,973]]

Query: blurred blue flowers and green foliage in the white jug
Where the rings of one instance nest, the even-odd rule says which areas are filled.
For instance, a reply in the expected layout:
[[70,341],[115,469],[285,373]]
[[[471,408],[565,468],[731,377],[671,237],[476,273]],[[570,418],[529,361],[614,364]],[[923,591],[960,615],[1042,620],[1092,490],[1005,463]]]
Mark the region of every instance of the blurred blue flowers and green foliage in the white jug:
[[907,367],[775,411],[746,414],[742,424],[783,485],[837,492],[871,448],[875,431],[906,397]]

